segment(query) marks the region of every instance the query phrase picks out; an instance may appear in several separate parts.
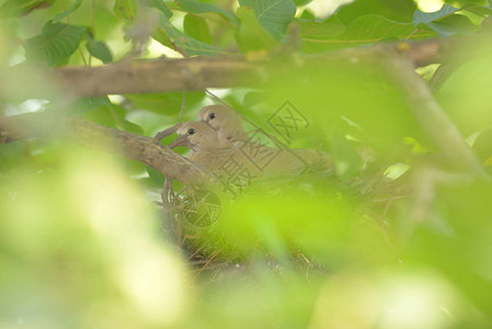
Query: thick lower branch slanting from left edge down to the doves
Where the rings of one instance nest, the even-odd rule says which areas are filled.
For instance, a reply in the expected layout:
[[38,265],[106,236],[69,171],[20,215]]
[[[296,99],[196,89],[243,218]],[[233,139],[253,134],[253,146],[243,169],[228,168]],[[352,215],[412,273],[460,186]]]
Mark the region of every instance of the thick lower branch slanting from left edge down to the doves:
[[150,137],[104,127],[81,118],[31,113],[1,117],[0,128],[9,134],[10,140],[30,137],[69,138],[89,148],[121,154],[184,184],[205,183],[209,178],[204,169]]

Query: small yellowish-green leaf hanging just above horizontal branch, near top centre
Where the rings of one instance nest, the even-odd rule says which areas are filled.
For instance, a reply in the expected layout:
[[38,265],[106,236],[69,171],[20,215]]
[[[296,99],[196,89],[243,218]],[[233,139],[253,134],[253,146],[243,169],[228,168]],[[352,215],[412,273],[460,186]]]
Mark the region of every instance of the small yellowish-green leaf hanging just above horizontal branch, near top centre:
[[236,38],[242,53],[270,50],[276,46],[277,42],[263,29],[251,9],[238,8],[238,18],[241,24]]

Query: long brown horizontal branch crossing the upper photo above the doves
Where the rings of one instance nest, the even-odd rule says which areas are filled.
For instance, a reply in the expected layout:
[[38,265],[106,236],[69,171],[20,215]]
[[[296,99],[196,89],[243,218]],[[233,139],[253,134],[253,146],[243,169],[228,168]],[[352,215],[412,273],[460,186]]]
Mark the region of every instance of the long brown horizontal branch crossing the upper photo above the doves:
[[[476,38],[478,39],[478,38]],[[464,44],[465,43],[465,44]],[[374,63],[381,49],[392,49],[404,54],[416,67],[439,63],[443,57],[465,45],[470,50],[470,41],[464,38],[430,39],[423,42],[384,43],[369,47],[355,47],[323,54],[302,55],[302,60],[351,60],[357,58]],[[382,54],[384,56],[384,54]],[[180,59],[155,59],[122,61],[101,67],[67,67],[42,69],[38,73],[52,77],[62,92],[77,97],[96,97],[105,94],[151,93],[183,90],[204,90],[206,88],[259,87],[265,80],[271,66],[267,57],[249,61],[243,56],[192,57]],[[23,70],[24,69],[24,70]],[[16,71],[19,70],[19,71]],[[32,77],[25,68],[10,68],[2,76],[25,79],[31,86]],[[8,79],[7,79],[8,81]],[[5,83],[5,82],[3,82]],[[22,83],[22,81],[21,81]],[[5,92],[7,86],[0,90]],[[28,91],[30,97],[46,97],[42,90]]]

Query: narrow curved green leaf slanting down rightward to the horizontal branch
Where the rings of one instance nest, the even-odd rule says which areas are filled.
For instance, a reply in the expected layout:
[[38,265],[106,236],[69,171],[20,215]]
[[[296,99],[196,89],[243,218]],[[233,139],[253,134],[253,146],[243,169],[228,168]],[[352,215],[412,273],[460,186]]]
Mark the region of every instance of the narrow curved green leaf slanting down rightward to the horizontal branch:
[[160,14],[160,26],[165,32],[168,37],[173,42],[178,50],[185,53],[188,56],[192,55],[202,55],[202,56],[211,56],[211,55],[226,55],[227,52],[224,52],[217,47],[207,45],[196,38],[193,38],[183,32],[179,31],[174,27],[171,22],[163,14]]

